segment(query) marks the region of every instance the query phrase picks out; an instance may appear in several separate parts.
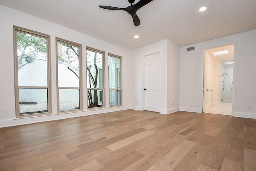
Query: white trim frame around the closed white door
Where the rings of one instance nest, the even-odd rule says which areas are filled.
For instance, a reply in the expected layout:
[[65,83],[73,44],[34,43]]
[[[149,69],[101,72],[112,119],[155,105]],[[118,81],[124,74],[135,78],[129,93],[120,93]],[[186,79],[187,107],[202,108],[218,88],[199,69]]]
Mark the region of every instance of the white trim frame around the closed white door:
[[141,109],[142,110],[145,110],[145,91],[144,91],[144,88],[145,88],[145,70],[144,70],[144,57],[146,56],[150,56],[150,55],[154,55],[154,54],[157,54],[159,53],[159,68],[160,68],[160,82],[159,82],[159,113],[161,111],[161,92],[162,92],[162,50],[158,50],[158,51],[153,51],[151,53],[147,53],[145,55],[142,55],[141,56],[141,61],[142,61],[142,87],[141,87],[141,90],[142,90],[142,106],[141,106]]

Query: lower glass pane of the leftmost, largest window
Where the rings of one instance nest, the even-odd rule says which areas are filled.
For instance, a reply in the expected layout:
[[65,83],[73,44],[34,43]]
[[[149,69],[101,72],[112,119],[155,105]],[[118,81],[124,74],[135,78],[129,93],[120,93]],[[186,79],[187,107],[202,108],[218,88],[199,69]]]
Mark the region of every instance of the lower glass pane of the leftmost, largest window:
[[19,88],[20,115],[48,112],[47,89]]

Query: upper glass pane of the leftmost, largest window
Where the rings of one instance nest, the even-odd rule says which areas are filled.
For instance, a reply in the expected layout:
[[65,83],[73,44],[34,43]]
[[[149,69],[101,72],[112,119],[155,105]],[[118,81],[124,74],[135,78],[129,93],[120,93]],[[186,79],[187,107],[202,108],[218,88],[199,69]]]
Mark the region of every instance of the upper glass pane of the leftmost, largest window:
[[18,85],[47,86],[47,39],[17,32]]

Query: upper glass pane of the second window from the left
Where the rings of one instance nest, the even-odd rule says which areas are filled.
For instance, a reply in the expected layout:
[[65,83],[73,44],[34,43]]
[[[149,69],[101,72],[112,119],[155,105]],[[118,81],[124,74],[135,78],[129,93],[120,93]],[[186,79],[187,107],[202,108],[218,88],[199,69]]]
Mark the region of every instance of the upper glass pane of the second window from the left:
[[79,87],[79,48],[57,43],[58,86]]

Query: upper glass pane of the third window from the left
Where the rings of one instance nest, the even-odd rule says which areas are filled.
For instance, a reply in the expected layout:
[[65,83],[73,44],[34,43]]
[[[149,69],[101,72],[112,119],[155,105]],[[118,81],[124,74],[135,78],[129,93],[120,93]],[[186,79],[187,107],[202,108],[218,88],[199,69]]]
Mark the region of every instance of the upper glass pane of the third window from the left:
[[87,50],[87,88],[103,88],[102,53]]

